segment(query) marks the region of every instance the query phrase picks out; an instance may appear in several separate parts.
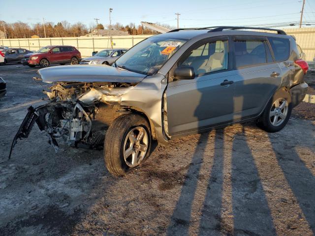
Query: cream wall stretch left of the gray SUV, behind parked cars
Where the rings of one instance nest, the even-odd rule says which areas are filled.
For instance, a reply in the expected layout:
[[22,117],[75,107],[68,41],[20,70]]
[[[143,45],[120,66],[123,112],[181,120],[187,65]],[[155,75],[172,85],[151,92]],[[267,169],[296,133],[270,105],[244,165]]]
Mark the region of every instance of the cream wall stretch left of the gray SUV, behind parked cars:
[[[152,35],[113,36],[113,48],[131,48]],[[21,47],[37,51],[48,45],[71,45],[76,47],[82,57],[92,56],[92,52],[110,48],[108,37],[65,37],[65,38],[14,38],[0,39],[0,44],[8,47]]]

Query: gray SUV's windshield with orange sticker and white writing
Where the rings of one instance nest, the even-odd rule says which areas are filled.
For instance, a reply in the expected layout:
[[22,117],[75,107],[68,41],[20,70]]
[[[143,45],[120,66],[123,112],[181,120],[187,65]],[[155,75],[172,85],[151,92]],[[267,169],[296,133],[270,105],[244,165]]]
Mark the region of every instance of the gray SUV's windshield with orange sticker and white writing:
[[137,73],[153,75],[186,41],[151,37],[129,49],[114,65]]

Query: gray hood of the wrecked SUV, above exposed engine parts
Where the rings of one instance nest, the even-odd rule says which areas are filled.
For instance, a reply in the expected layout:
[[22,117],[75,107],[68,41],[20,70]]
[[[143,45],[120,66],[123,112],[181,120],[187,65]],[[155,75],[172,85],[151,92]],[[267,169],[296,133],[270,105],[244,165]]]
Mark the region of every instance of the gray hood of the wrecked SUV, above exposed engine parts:
[[37,72],[43,82],[125,82],[138,83],[146,75],[105,65],[62,65],[43,68]]

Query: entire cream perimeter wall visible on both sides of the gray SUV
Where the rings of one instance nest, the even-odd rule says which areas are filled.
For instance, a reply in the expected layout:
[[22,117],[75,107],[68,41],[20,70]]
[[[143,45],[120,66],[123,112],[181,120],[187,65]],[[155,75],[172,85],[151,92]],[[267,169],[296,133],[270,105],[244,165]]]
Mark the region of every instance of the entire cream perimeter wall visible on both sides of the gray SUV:
[[[293,35],[297,43],[306,54],[306,60],[314,68],[315,57],[315,28],[284,29],[287,34]],[[113,36],[114,48],[131,48],[136,43],[152,35],[124,35]],[[20,38],[0,39],[0,44],[9,47],[21,47],[29,50],[38,50],[47,45],[71,45],[76,47],[82,57],[89,57],[93,51],[110,48],[108,37],[66,37],[66,38]]]

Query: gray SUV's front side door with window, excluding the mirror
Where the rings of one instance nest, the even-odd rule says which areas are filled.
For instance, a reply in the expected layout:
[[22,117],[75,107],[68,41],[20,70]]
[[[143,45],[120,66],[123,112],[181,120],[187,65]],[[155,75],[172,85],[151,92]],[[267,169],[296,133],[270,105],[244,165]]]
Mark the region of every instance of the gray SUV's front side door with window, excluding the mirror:
[[192,66],[196,76],[192,80],[173,80],[170,72],[166,89],[169,135],[195,132],[232,120],[235,84],[228,55],[227,38],[202,40],[175,65]]

